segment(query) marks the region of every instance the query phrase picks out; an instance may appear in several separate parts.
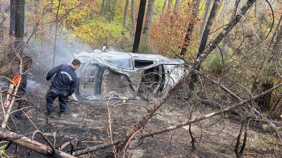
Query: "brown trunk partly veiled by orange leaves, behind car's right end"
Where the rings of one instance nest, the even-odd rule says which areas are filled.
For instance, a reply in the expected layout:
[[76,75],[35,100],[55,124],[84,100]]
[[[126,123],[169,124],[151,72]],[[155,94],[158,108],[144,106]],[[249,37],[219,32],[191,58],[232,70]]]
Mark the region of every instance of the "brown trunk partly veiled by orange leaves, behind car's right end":
[[187,47],[189,46],[190,40],[191,40],[191,35],[193,33],[194,30],[194,26],[197,23],[197,21],[199,20],[199,7],[200,7],[200,2],[201,0],[197,0],[196,2],[193,1],[193,15],[191,18],[193,18],[194,20],[191,20],[191,22],[188,25],[188,29],[185,35],[185,39],[184,39],[184,44],[181,48],[180,51],[180,55],[185,55],[186,51],[187,51]]

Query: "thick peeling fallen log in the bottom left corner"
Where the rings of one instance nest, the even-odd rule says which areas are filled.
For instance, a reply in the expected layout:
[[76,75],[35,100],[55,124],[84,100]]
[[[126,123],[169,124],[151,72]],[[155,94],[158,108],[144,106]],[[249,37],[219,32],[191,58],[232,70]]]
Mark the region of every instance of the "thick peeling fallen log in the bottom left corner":
[[37,141],[34,141],[34,140],[27,138],[25,136],[22,136],[20,134],[16,134],[16,133],[14,133],[10,130],[7,130],[5,128],[0,129],[0,139],[5,140],[5,141],[9,141],[9,142],[14,143],[16,145],[30,149],[30,150],[37,152],[41,155],[44,155],[46,157],[50,157],[50,158],[74,158],[74,156],[67,154],[65,152],[62,152],[58,149],[56,149],[55,153],[52,154],[52,149],[50,148],[50,146],[39,143]]

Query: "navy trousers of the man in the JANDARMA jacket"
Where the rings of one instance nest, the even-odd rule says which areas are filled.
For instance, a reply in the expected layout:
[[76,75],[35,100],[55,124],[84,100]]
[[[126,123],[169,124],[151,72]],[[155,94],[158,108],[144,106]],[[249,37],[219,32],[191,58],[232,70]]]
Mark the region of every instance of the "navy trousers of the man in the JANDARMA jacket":
[[68,103],[68,92],[67,91],[60,91],[53,87],[52,85],[50,86],[49,91],[46,94],[46,109],[48,111],[51,111],[53,109],[53,101],[58,97],[59,103],[60,103],[60,110],[61,112],[65,112],[67,110],[67,103]]

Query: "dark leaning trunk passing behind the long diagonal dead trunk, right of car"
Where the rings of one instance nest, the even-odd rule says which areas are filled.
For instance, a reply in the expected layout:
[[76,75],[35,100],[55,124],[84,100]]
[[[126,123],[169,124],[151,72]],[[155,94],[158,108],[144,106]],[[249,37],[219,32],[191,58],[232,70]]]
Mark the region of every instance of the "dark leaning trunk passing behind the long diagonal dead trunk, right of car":
[[[215,0],[213,2],[213,6],[211,8],[211,12],[210,12],[210,16],[209,16],[208,22],[206,24],[206,28],[205,28],[205,30],[203,32],[202,40],[201,40],[201,43],[200,43],[200,47],[199,47],[199,51],[198,51],[196,59],[200,57],[200,55],[202,54],[202,52],[204,51],[204,49],[206,47],[206,43],[207,43],[207,40],[208,40],[208,34],[210,33],[210,28],[211,28],[213,22],[215,21],[215,17],[216,17],[217,12],[218,12],[218,10],[220,8],[219,6],[221,6],[220,0]],[[196,68],[197,71],[199,71],[200,66],[201,65],[199,65]],[[190,85],[189,85],[190,91],[194,90],[196,80],[197,80],[197,74],[193,73],[192,76],[191,76],[191,82],[190,82]]]

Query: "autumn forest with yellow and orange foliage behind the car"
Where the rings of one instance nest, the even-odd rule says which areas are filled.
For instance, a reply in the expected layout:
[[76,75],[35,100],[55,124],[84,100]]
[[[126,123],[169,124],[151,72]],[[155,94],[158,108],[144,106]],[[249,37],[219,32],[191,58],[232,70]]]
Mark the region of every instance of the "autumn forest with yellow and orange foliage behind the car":
[[[0,32],[3,40],[8,40],[8,35],[13,34],[9,21],[10,2],[1,1]],[[17,2],[23,2],[25,8],[22,39],[36,57],[37,65],[41,65],[42,58],[53,56],[54,67],[54,64],[62,62],[61,56],[101,49],[106,40],[111,42],[111,50],[132,52],[140,1]],[[189,65],[189,62],[195,63],[205,53],[205,48],[209,48],[214,41],[218,42],[215,49],[207,53],[210,55],[200,62],[201,66],[198,64],[196,67],[197,71],[212,78],[215,85],[204,79],[207,76],[194,73],[188,79],[191,82],[185,81],[187,84],[181,85],[186,90],[184,97],[189,98],[191,103],[204,98],[210,104],[224,100],[225,105],[235,106],[238,100],[248,100],[262,94],[251,100],[251,111],[261,118],[266,116],[279,122],[282,93],[281,88],[275,86],[281,85],[282,77],[282,4],[279,0],[255,1],[246,14],[236,15],[246,2],[253,3],[251,0],[149,0],[145,9],[144,27],[138,30],[138,33],[142,32],[138,53],[182,58]],[[216,41],[216,37],[226,31],[223,28],[228,26],[226,24],[230,19],[237,17],[241,17],[241,21],[224,35],[222,41]],[[232,91],[229,94],[233,98],[225,93],[226,90],[222,90],[224,86]],[[234,99],[233,94],[239,99]],[[249,128],[248,122],[253,119],[246,111],[241,114],[244,121],[238,135],[238,146],[242,131]],[[265,124],[265,128],[275,127]],[[275,131],[277,135],[271,135],[270,144],[274,146],[273,150],[279,150],[277,146],[281,141],[281,128],[275,128]]]

